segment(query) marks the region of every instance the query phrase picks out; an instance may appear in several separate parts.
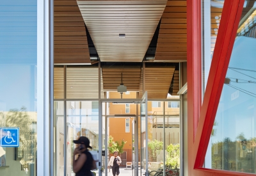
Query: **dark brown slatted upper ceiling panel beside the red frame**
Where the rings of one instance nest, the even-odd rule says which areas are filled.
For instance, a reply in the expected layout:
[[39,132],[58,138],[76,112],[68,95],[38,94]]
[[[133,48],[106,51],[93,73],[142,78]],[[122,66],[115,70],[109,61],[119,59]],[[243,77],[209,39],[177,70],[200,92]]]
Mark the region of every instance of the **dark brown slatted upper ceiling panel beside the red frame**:
[[187,61],[187,3],[168,1],[162,15],[156,61]]

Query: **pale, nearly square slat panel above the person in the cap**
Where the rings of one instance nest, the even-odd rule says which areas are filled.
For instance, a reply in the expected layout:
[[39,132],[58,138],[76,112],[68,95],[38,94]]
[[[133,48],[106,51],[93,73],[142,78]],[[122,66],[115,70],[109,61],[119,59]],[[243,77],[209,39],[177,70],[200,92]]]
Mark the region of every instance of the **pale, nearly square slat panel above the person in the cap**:
[[[103,88],[100,97],[104,98]],[[99,99],[99,68],[67,67],[67,99]]]

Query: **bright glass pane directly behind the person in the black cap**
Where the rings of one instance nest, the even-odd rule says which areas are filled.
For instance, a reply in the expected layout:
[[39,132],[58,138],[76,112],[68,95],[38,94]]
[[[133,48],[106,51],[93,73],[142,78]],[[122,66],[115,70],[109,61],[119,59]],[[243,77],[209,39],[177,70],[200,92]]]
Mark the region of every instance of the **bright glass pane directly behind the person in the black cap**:
[[[97,102],[99,105],[99,102]],[[67,102],[67,168],[69,175],[74,174],[72,171],[72,159],[74,149],[77,147],[73,140],[79,136],[86,136],[90,140],[92,153],[95,160],[99,160],[99,113],[95,113],[96,101],[68,101]],[[99,107],[99,106],[98,106]],[[93,112],[94,111],[94,112]],[[97,109],[99,112],[99,109]],[[101,134],[100,134],[101,135]],[[96,164],[99,166],[99,164]]]

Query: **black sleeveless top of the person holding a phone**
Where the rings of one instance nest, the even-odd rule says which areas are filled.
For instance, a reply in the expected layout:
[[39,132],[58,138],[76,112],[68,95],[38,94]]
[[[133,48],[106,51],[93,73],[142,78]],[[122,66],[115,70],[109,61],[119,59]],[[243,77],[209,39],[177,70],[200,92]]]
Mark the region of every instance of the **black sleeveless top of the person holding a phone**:
[[86,161],[83,164],[81,170],[76,173],[76,176],[92,176],[91,168],[92,168],[92,161],[93,157],[92,154],[88,151],[85,150],[83,154],[86,154]]

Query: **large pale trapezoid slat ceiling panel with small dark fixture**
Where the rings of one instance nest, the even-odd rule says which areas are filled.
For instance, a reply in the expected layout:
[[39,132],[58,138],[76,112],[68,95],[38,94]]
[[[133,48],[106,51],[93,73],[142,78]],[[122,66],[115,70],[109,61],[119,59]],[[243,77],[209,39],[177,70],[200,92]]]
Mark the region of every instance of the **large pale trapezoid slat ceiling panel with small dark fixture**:
[[[166,0],[77,1],[100,61],[143,60]],[[125,38],[119,38],[125,34]]]

